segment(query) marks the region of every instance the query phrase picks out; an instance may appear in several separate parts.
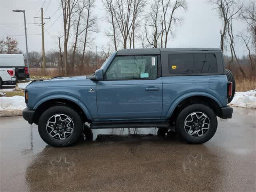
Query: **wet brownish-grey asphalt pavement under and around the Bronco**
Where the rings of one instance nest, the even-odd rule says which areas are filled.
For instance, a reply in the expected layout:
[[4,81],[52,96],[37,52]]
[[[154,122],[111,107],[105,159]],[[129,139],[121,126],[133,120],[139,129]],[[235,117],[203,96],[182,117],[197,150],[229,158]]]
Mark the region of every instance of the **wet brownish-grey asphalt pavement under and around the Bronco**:
[[234,108],[202,145],[156,132],[93,130],[53,148],[21,116],[0,118],[0,191],[256,191],[256,110]]

